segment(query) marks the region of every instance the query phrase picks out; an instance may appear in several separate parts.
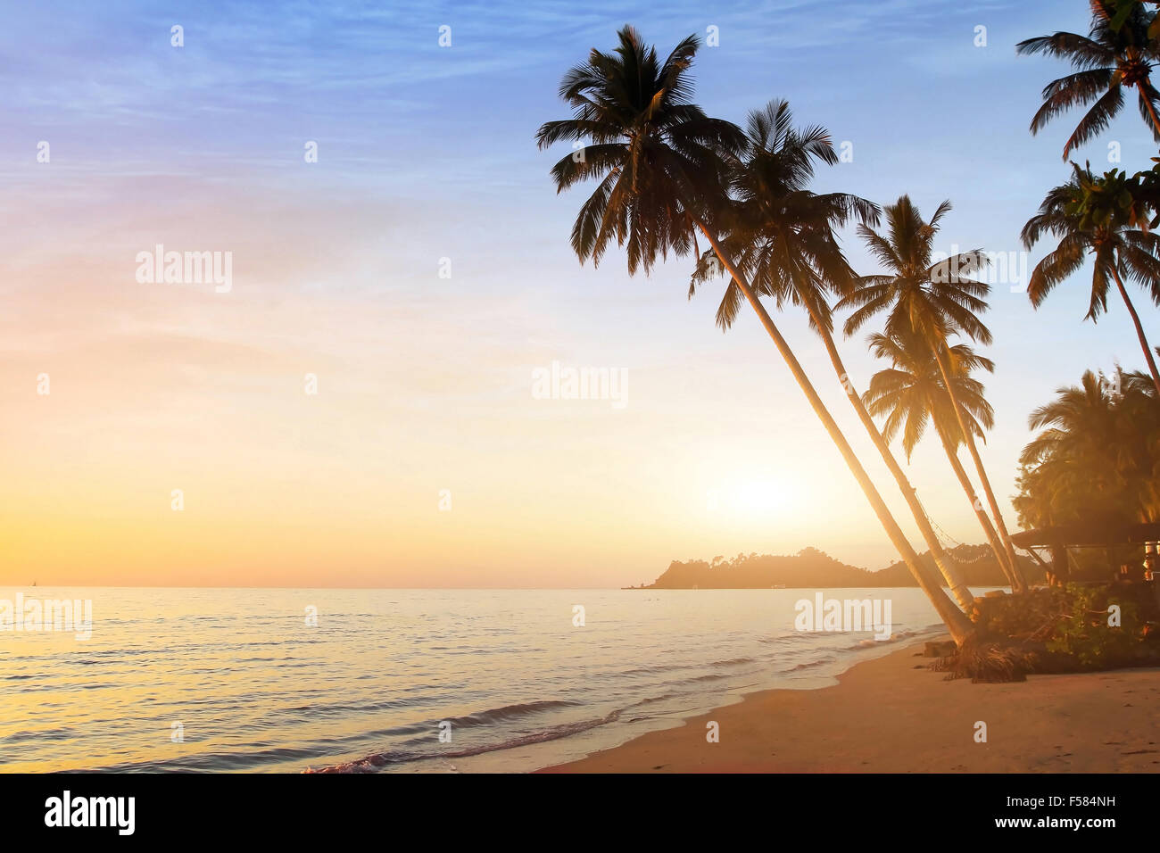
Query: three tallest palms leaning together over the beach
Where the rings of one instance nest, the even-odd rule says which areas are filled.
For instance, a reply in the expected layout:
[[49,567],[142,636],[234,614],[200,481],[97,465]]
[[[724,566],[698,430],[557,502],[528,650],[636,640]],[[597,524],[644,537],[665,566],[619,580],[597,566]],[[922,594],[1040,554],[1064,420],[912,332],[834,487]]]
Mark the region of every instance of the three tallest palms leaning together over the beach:
[[[858,328],[879,311],[887,312],[886,334],[900,345],[928,353],[938,367],[930,393],[945,397],[942,411],[956,412],[942,424],[948,446],[973,448],[964,425],[978,420],[958,410],[955,392],[971,367],[949,339],[965,334],[987,342],[989,333],[978,315],[986,309],[987,285],[970,280],[981,255],[969,253],[933,262],[931,243],[943,204],[923,222],[905,196],[886,211],[889,231],[873,229],[883,211],[849,194],[815,194],[809,189],[817,165],[838,161],[829,135],[821,128],[796,128],[789,106],[773,101],[752,113],[745,129],[708,116],[691,100],[689,70],[697,38],[681,42],[665,59],[631,27],[618,34],[612,52],[593,50],[588,60],[570,70],[560,97],[572,117],[546,122],[537,132],[541,147],[557,142],[583,144],[552,168],[557,191],[583,181],[595,190],[583,202],[572,229],[572,247],[581,262],[599,263],[616,241],[625,248],[630,273],[651,267],[669,254],[698,255],[690,296],[716,275],[728,283],[717,321],[727,327],[742,302],[756,313],[807,402],[827,431],[886,535],[919,586],[930,598],[956,642],[974,636],[964,613],[971,594],[956,564],[945,554],[886,438],[854,388],[834,341],[834,309],[855,306],[846,332]],[[847,262],[834,229],[855,221],[886,266],[886,273],[857,275]],[[701,255],[698,239],[708,244]],[[873,441],[942,573],[933,577],[886,506],[877,486],[850,448],[762,297],[781,308],[785,302],[805,309],[820,335],[847,397]],[[977,451],[978,470],[981,462]],[[972,504],[981,504],[970,491]],[[987,486],[989,492],[989,486]],[[1006,526],[993,498],[995,556],[1016,588],[1022,577],[1014,549],[1003,541]],[[980,508],[981,512],[981,508]],[[986,513],[983,513],[984,515]],[[957,600],[942,588],[945,581]]]

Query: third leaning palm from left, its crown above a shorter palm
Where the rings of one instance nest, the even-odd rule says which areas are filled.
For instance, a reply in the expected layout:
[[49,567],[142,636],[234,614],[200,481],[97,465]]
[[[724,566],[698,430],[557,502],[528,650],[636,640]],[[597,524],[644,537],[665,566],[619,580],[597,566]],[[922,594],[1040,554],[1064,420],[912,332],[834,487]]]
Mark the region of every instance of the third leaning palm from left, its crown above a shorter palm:
[[909,196],[904,195],[886,208],[889,237],[883,237],[869,225],[860,225],[858,233],[889,273],[857,279],[853,292],[843,297],[836,308],[856,309],[846,320],[847,335],[856,332],[878,312],[887,311],[884,330],[887,337],[914,333],[927,342],[950,397],[959,435],[974,462],[991,506],[991,514],[1003,543],[1007,568],[1017,578],[1020,571],[1015,545],[1012,544],[1007,525],[999,511],[999,501],[974,443],[974,434],[967,427],[963,406],[955,397],[955,384],[950,381],[951,366],[944,357],[949,348],[947,339],[951,334],[965,334],[974,341],[991,342],[991,331],[977,317],[977,313],[987,309],[983,297],[991,291],[991,287],[969,277],[970,273],[987,263],[986,255],[976,250],[931,263],[931,247],[938,232],[938,222],[950,209],[950,202],[944,201],[935,210],[930,222],[923,222]]

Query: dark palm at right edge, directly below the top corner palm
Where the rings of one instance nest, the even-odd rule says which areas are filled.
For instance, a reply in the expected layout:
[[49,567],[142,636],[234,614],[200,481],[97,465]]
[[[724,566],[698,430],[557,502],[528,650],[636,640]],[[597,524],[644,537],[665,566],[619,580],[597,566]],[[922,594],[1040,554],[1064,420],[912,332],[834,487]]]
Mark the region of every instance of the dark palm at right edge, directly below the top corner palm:
[[1118,181],[1119,176],[1114,173],[1095,178],[1090,168],[1081,169],[1072,164],[1071,180],[1047,193],[1039,212],[1023,226],[1023,245],[1030,250],[1044,233],[1058,237],[1059,245],[1031,272],[1027,294],[1031,304],[1038,308],[1052,288],[1079,270],[1090,254],[1094,261],[1092,295],[1083,319],[1095,323],[1108,310],[1109,280],[1116,282],[1116,289],[1136,325],[1136,337],[1152,381],[1160,393],[1160,373],[1157,371],[1152,348],[1124,287],[1124,279],[1134,281],[1144,287],[1153,303],[1160,305],[1160,260],[1157,260],[1160,237],[1131,226],[1138,218],[1131,205],[1107,204],[1093,211],[1083,204],[1093,195],[1107,194],[1109,185]]

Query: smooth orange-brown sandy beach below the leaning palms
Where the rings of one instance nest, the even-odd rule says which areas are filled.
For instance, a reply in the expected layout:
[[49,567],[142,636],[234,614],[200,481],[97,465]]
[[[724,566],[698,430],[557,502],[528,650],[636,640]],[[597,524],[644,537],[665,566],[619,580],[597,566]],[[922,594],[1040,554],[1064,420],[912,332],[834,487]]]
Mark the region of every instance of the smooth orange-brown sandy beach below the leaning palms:
[[[774,689],[544,773],[1160,771],[1160,671],[947,681],[922,644],[820,689]],[[719,743],[706,724],[719,724]],[[976,742],[977,722],[986,743]]]

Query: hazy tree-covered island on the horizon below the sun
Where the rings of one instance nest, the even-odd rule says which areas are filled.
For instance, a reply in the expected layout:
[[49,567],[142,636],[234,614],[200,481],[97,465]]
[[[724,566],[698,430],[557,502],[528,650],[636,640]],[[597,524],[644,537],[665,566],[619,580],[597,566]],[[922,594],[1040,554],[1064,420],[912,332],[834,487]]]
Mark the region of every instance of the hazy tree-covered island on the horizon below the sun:
[[[959,545],[947,551],[960,566],[969,586],[1007,586],[1008,581],[995,563],[988,545]],[[1031,583],[1043,580],[1043,571],[1028,557],[1020,557]],[[937,573],[930,551],[922,562]],[[905,563],[898,562],[879,571],[847,565],[817,548],[803,548],[795,555],[739,554],[732,559],[673,561],[652,584],[628,586],[626,590],[768,590],[828,588],[843,586],[918,586]]]

